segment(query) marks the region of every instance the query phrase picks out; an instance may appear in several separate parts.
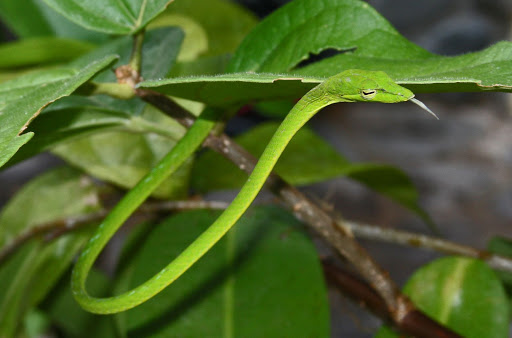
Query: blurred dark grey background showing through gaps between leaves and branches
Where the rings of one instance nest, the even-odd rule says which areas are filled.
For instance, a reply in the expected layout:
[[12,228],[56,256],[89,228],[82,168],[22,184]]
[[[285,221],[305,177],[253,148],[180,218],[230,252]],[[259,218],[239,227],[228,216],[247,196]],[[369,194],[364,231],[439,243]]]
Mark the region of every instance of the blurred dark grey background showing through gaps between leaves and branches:
[[[240,0],[259,16],[283,0]],[[369,1],[407,38],[443,55],[480,50],[510,40],[509,0]],[[5,27],[3,41],[15,37]],[[412,104],[338,105],[311,126],[354,161],[382,162],[405,170],[422,206],[451,240],[484,248],[495,234],[512,237],[512,119],[509,97],[499,93],[420,95],[441,120]],[[230,130],[256,119],[238,118]],[[40,155],[0,172],[0,206],[35,173],[59,162]],[[425,231],[402,207],[347,179],[303,189],[346,218],[385,227]],[[436,254],[389,244],[363,243],[392,277],[403,283]],[[399,259],[398,259],[399,258]],[[333,337],[370,337],[378,319],[331,290]]]

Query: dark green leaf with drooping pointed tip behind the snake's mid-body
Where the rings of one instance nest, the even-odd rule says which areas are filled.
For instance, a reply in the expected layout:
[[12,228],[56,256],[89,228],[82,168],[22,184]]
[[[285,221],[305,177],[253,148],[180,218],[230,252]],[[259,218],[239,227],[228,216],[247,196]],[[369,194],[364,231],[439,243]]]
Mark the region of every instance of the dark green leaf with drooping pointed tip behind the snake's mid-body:
[[[273,122],[261,124],[235,141],[259,157],[278,126]],[[383,164],[350,163],[307,128],[302,128],[288,144],[275,172],[292,185],[311,184],[338,176],[350,177],[393,199],[435,227],[418,204],[414,184],[400,169]],[[246,180],[245,172],[213,151],[203,153],[195,161],[192,171],[192,187],[200,192],[240,188]]]

